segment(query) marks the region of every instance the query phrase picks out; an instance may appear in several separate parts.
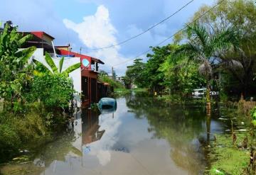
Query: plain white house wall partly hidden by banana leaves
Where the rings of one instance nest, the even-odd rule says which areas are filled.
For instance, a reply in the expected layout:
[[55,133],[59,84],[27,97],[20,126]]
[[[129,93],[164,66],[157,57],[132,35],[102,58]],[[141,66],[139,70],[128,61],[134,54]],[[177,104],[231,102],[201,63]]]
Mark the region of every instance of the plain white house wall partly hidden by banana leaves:
[[[48,64],[46,63],[45,56],[43,56],[43,48],[38,48],[36,51],[33,53],[31,60],[37,60],[38,62],[43,63],[46,67],[50,69]],[[60,62],[61,57],[53,58],[53,62],[55,63],[56,67],[59,67],[59,62]],[[79,63],[80,62],[80,57],[64,57],[64,62],[63,62],[63,69],[62,71],[65,71],[68,67],[70,67],[73,64]],[[78,93],[75,94],[75,101],[78,103],[78,107],[81,106],[81,100],[80,100],[80,93],[82,91],[81,89],[81,69],[78,68],[75,71],[71,72],[69,74],[69,77],[73,80],[73,85],[75,91]]]

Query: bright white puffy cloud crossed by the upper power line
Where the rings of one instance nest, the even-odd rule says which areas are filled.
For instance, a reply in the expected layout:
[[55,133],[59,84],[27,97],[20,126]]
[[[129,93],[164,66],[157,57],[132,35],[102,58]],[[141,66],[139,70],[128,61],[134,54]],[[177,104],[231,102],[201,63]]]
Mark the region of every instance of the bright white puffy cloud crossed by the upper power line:
[[[108,9],[103,5],[98,6],[93,16],[85,16],[82,23],[74,23],[68,19],[64,19],[63,23],[67,28],[78,33],[78,37],[88,48],[99,48],[117,44],[117,30],[110,21]],[[92,57],[100,58],[106,64],[103,68],[110,70],[110,67],[115,64],[127,60],[127,58],[119,54],[119,49],[120,47],[116,46],[105,50],[90,50],[90,52],[84,50],[84,52]],[[124,74],[124,69],[118,67],[116,72],[117,74]]]

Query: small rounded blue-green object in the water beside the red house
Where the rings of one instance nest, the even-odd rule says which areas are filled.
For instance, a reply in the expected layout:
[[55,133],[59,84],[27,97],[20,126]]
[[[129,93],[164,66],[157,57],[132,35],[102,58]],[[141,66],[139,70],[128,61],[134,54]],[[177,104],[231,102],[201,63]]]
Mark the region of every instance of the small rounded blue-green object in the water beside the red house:
[[101,113],[112,113],[117,110],[117,101],[114,98],[101,98],[98,108]]

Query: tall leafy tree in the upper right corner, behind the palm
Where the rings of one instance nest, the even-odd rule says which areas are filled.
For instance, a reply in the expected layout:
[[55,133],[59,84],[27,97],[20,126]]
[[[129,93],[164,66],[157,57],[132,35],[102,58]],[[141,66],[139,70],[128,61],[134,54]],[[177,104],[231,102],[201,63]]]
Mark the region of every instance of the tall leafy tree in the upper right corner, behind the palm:
[[[210,6],[202,6],[193,16],[198,18],[208,11]],[[239,49],[235,52],[228,52],[220,55],[222,60],[228,64],[223,64],[224,73],[228,74],[226,79],[230,84],[225,84],[227,92],[233,94],[244,94],[249,96],[255,93],[255,82],[253,82],[256,71],[256,4],[252,0],[225,0],[203,18],[199,23],[206,26],[211,31],[223,30],[229,26],[235,26],[238,30]],[[235,60],[235,62],[230,62]],[[233,64],[240,64],[240,67],[230,67]],[[235,84],[233,83],[235,82]]]

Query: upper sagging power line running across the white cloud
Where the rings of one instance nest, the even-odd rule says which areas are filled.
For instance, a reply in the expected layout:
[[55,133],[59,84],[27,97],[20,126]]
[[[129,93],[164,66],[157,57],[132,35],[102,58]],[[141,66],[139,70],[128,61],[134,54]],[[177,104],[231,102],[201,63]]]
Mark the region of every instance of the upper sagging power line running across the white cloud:
[[186,6],[188,6],[189,4],[191,4],[193,1],[194,1],[194,0],[189,1],[187,4],[185,4],[184,6],[182,6],[181,9],[178,9],[178,11],[172,13],[170,16],[168,16],[167,18],[164,18],[162,21],[160,21],[159,23],[156,23],[154,26],[151,26],[150,28],[148,28],[148,29],[142,31],[142,33],[139,33],[139,34],[137,34],[137,35],[134,35],[134,36],[132,36],[131,38],[129,38],[129,39],[127,39],[127,40],[123,40],[123,41],[120,42],[120,43],[117,43],[117,44],[114,44],[114,45],[109,45],[109,46],[106,46],[106,47],[99,47],[99,48],[92,48],[92,49],[90,49],[90,48],[85,48],[85,47],[81,47],[81,48],[82,48],[82,49],[85,49],[85,50],[104,50],[104,49],[108,49],[108,48],[111,48],[111,47],[115,47],[115,46],[117,46],[117,45],[122,45],[122,44],[124,44],[124,43],[127,43],[129,40],[132,40],[132,39],[134,39],[134,38],[137,38],[137,37],[139,37],[140,35],[143,35],[144,33],[148,32],[149,30],[155,28],[156,26],[159,26],[159,24],[164,23],[164,21],[166,21],[166,20],[168,20],[169,18],[175,16],[176,13],[178,13],[179,11],[185,9]]

